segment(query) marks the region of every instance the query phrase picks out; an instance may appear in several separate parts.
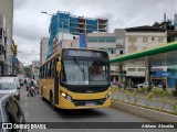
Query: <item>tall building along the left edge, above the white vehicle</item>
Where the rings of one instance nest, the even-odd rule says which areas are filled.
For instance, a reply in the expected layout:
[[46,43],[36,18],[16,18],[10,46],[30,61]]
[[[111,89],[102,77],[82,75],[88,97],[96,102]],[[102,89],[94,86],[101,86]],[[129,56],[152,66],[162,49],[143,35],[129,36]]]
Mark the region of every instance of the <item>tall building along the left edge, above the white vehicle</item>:
[[13,0],[0,0],[0,76],[12,74],[14,66]]

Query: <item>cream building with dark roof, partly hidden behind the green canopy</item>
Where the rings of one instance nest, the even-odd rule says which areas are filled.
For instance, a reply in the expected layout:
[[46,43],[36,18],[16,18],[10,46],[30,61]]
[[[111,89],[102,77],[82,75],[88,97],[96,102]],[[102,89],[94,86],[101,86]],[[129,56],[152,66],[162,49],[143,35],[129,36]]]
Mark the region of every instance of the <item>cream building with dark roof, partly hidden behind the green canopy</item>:
[[[165,29],[154,26],[137,26],[125,29],[125,53],[138,52],[148,47],[167,43],[167,32]],[[146,80],[145,63],[133,62],[126,63],[126,80],[143,82]],[[167,70],[166,66],[156,67],[152,70]],[[159,79],[154,77],[153,79]],[[162,78],[166,80],[166,78]]]

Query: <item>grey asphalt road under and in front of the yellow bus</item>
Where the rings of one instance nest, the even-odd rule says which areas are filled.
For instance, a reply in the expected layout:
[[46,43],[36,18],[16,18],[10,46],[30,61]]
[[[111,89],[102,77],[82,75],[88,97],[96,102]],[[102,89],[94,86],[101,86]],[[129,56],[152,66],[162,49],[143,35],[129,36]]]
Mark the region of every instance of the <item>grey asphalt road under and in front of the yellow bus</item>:
[[[152,122],[148,119],[134,116],[113,108],[90,110],[54,111],[40,95],[28,97],[24,86],[21,88],[19,101],[27,122]],[[117,123],[118,125],[118,123]],[[170,129],[48,129],[29,130],[29,132],[176,132]]]

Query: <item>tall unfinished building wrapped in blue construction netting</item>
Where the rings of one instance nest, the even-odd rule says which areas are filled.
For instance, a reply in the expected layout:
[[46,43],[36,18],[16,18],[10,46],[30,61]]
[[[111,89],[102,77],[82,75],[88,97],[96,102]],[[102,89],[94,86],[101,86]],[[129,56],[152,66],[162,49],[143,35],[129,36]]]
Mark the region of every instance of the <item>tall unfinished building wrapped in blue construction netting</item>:
[[107,32],[108,20],[104,18],[84,18],[70,14],[70,12],[58,11],[52,15],[50,23],[49,55],[52,55],[53,40],[58,33],[70,33],[73,35],[87,34],[92,32]]

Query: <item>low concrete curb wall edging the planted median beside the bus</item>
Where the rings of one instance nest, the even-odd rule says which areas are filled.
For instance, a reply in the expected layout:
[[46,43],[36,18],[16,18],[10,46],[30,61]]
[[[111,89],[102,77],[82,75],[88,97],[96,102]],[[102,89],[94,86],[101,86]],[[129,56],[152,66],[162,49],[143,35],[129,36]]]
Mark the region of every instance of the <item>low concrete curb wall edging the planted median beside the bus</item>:
[[140,116],[146,119],[150,119],[157,122],[177,122],[177,116],[171,116],[168,113],[145,109],[142,107],[136,107],[136,106],[132,106],[132,105],[127,105],[118,101],[112,100],[111,107],[136,114],[136,116]]

